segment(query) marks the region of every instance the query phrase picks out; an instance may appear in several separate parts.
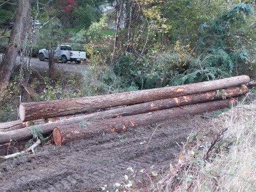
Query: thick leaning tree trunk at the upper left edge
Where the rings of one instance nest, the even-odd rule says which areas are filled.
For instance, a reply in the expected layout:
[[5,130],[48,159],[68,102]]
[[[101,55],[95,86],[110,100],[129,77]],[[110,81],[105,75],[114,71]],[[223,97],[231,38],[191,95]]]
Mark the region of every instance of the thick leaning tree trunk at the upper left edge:
[[19,0],[14,25],[6,48],[4,60],[0,65],[0,84],[7,84],[20,49],[26,17],[30,8],[30,0]]

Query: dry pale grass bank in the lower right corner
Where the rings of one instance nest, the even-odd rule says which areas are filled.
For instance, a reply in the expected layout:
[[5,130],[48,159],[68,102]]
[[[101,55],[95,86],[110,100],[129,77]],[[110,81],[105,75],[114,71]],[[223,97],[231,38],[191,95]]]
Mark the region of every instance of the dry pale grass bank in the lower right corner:
[[240,104],[190,136],[152,191],[256,191],[256,102]]

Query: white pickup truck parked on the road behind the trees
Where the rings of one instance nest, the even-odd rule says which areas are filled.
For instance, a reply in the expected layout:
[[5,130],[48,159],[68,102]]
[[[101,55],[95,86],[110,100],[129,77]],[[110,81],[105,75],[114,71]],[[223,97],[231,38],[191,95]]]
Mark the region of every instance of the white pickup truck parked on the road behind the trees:
[[[40,61],[49,59],[49,49],[41,49],[38,54]],[[81,61],[86,60],[86,52],[72,51],[71,46],[69,45],[58,45],[57,48],[54,49],[54,59],[61,60],[62,63],[67,63],[68,61],[80,63]]]

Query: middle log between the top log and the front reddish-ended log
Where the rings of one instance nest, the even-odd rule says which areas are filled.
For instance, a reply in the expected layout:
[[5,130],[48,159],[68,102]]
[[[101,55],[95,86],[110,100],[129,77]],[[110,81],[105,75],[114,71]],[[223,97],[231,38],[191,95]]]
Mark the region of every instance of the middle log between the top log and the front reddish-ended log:
[[[36,126],[26,127],[20,130],[13,130],[8,132],[0,132],[0,144],[7,143],[10,141],[20,141],[32,137],[33,129],[40,130],[42,134],[47,134],[52,131],[54,127],[60,127],[66,124],[81,124],[81,122],[86,121],[97,121],[108,118],[116,118],[123,116],[132,116],[134,114],[140,114],[145,112],[151,112],[161,109],[168,109],[172,107],[181,107],[182,105],[201,103],[217,99],[225,99],[229,97],[239,96],[248,91],[245,85],[241,87],[233,87],[228,89],[209,91],[205,93],[192,94],[177,98],[157,100],[148,103],[141,103],[136,105],[131,105],[127,107],[121,107],[91,114],[81,114],[78,117],[72,118],[68,117],[58,117],[48,119],[45,124],[40,124]],[[32,130],[32,131],[31,131]]]

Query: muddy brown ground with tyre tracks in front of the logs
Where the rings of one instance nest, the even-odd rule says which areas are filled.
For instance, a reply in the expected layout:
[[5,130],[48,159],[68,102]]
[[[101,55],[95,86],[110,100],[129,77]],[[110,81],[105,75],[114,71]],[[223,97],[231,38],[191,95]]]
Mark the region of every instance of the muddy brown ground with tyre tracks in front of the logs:
[[35,155],[0,162],[0,191],[102,191],[104,185],[112,191],[125,174],[131,176],[128,167],[138,171],[135,181],[141,183],[153,170],[167,171],[181,142],[191,131],[209,127],[209,121],[187,116],[65,146],[44,145]]

